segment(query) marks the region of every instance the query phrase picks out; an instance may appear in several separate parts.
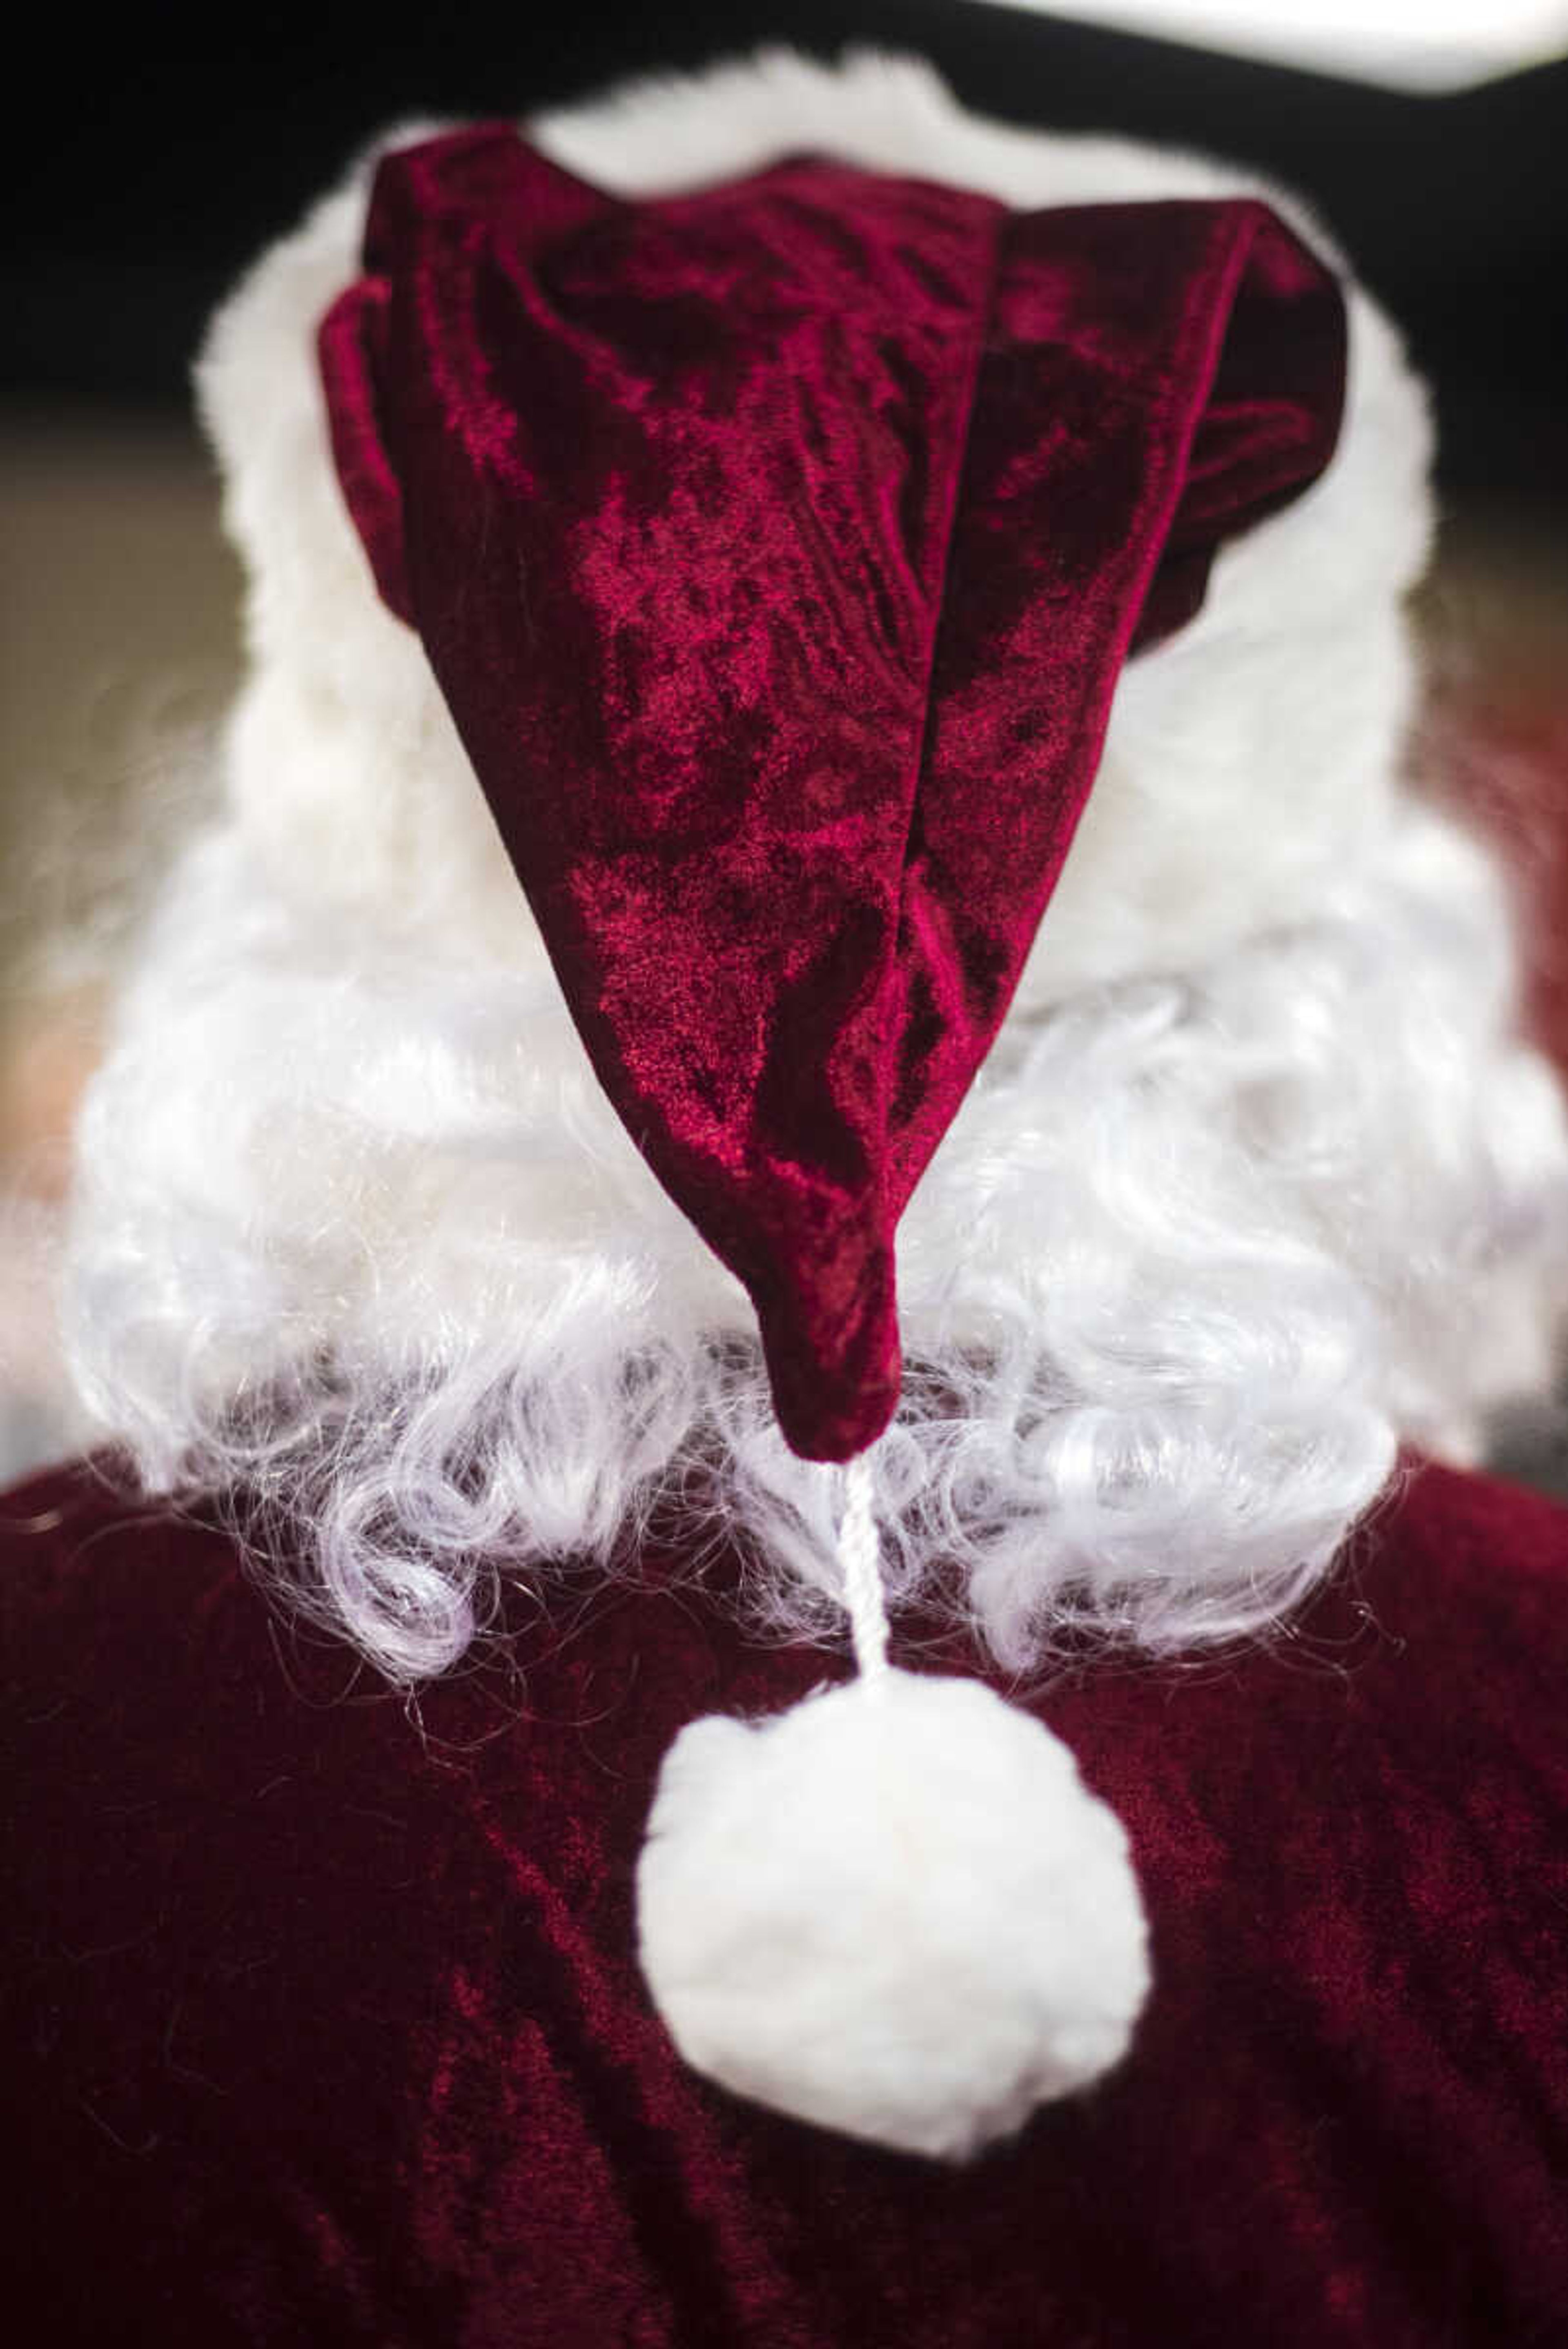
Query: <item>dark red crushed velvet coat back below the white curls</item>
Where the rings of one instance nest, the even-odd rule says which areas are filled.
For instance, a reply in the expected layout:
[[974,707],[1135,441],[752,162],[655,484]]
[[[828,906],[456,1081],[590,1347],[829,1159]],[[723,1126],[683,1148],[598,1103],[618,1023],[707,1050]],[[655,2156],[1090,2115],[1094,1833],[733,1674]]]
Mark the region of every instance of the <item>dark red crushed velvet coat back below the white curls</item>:
[[12,2340],[1568,2340],[1568,1513],[1425,1470],[1276,1649],[1039,1703],[1157,1987],[966,2170],[726,2098],[646,2006],[658,1757],[837,1670],[670,1564],[411,1715],[221,1532],[85,1468],[0,1503]]

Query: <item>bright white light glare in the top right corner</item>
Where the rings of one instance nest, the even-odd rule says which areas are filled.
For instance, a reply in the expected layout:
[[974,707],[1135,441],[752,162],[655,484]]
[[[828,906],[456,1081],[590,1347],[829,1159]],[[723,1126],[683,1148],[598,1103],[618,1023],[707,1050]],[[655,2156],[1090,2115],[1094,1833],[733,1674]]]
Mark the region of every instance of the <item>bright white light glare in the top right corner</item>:
[[1004,0],[1392,89],[1465,89],[1568,52],[1568,0]]

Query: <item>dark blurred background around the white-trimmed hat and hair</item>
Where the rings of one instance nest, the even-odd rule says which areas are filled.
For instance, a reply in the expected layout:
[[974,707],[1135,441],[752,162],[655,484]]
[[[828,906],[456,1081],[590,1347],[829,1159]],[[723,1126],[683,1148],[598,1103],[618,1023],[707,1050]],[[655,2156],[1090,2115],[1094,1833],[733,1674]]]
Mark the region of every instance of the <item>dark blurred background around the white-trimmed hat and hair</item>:
[[[527,115],[759,42],[919,52],[980,113],[1204,148],[1316,204],[1436,390],[1439,723],[1476,813],[1523,841],[1537,1015],[1568,1066],[1568,0],[1561,42],[1540,38],[1552,0],[1472,21],[1495,33],[1512,5],[1535,9],[1544,61],[1420,89],[1321,70],[1321,42],[1302,70],[973,0],[320,7],[197,28],[35,12],[0,214],[0,1205],[52,1212],[115,921],[237,669],[237,576],[188,397],[214,303],[388,122]],[[1462,9],[1429,0],[1406,23],[1432,38]],[[1288,12],[1258,0],[1255,19]],[[0,1306],[31,1330],[12,1362],[47,1351],[42,1322],[16,1322],[24,1226],[0,1217]]]

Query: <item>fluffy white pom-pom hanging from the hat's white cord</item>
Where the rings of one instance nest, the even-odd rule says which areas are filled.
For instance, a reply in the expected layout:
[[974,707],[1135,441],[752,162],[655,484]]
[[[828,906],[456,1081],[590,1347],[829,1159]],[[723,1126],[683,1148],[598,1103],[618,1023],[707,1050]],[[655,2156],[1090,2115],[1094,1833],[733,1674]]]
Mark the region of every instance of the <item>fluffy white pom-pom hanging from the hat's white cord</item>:
[[1098,2079],[1147,1994],[1121,1820],[971,1680],[884,1670],[670,1748],[642,1966],[686,2062],[961,2159]]

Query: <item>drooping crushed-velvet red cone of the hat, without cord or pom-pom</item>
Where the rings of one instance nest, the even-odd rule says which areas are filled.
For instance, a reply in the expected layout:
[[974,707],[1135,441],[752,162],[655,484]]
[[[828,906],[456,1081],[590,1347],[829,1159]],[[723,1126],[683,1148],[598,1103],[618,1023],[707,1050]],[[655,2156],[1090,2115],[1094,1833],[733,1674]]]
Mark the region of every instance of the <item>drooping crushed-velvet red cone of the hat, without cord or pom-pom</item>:
[[846,1459],[1121,660],[1328,463],[1340,291],[1255,202],[630,204],[489,124],[383,160],[320,348],[599,1081]]

